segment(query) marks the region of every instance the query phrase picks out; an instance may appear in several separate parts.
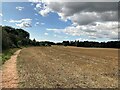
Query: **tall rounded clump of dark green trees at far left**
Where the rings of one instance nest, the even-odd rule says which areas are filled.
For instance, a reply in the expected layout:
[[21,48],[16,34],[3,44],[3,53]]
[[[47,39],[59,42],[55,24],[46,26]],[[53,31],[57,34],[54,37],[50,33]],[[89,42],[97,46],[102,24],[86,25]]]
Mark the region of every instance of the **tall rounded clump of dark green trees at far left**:
[[18,48],[28,45],[29,33],[23,29],[15,29],[9,26],[2,27],[2,49]]

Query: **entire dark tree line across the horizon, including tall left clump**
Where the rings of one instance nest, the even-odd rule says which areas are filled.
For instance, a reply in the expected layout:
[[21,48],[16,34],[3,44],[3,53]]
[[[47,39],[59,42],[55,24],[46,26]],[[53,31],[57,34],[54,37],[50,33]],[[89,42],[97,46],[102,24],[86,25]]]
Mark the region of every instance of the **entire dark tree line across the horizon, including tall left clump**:
[[62,43],[54,43],[50,41],[36,41],[30,39],[30,34],[23,29],[15,29],[10,26],[0,26],[2,31],[2,50],[9,48],[19,48],[22,46],[77,46],[77,47],[102,47],[102,48],[119,48],[120,41],[109,42],[92,42],[92,41],[63,41]]

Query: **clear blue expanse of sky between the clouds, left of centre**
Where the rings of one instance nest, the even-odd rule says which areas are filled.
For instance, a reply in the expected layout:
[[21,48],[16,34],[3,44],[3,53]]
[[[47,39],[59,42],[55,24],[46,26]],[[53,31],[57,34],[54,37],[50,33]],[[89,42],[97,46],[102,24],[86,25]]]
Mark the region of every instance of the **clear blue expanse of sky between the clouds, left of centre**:
[[[19,11],[16,7],[24,7],[23,10]],[[59,20],[59,16],[56,13],[50,13],[48,16],[43,17],[34,10],[35,5],[31,5],[29,2],[8,2],[2,4],[3,18],[2,25],[13,26],[20,28],[15,23],[10,23],[10,20],[21,20],[25,18],[32,19],[32,27],[23,28],[30,33],[30,38],[36,40],[51,40],[51,41],[62,41],[66,39],[66,35],[55,34],[54,32],[46,31],[46,28],[65,28],[71,25],[70,21],[64,22]],[[35,23],[39,22],[40,25]],[[42,23],[42,24],[41,24]],[[56,38],[56,36],[58,36]],[[69,35],[68,35],[69,36]],[[71,37],[70,37],[71,38]],[[74,38],[73,38],[74,39]]]

